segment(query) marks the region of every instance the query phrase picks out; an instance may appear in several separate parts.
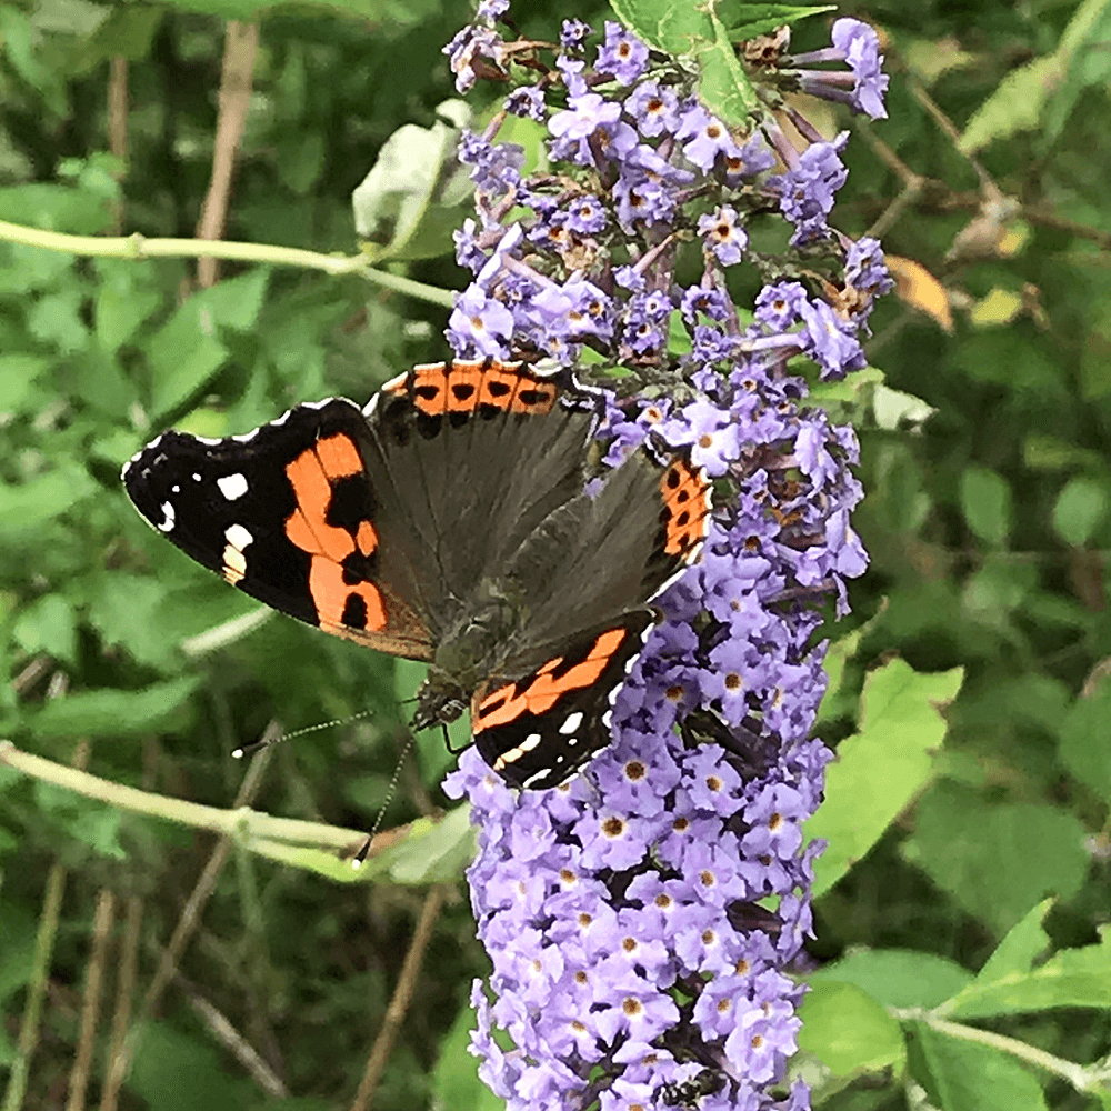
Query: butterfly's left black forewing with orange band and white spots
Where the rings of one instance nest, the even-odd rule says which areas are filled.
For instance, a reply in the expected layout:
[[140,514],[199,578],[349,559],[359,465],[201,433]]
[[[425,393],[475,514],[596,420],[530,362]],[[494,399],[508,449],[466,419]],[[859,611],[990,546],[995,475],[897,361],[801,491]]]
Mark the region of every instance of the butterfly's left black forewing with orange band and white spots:
[[368,473],[369,456],[359,407],[333,398],[243,437],[166,432],[123,482],[156,529],[232,585],[327,632],[427,660],[434,631],[398,565],[397,496]]

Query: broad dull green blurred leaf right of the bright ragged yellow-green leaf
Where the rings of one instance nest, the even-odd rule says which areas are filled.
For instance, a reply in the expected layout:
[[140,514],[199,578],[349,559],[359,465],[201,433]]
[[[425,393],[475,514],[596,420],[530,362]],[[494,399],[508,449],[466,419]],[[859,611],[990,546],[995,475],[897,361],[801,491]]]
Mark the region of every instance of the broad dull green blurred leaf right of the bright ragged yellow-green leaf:
[[970,914],[1003,932],[1048,892],[1071,899],[1080,890],[1084,838],[1077,818],[1055,807],[988,803],[945,781],[922,799],[903,850]]

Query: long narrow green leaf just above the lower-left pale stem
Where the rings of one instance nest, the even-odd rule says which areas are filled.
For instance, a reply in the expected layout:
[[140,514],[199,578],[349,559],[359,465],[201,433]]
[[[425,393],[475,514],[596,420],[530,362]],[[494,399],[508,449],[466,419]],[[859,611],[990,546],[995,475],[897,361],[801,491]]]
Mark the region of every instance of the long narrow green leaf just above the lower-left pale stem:
[[78,691],[47,702],[28,720],[39,737],[122,737],[167,729],[203,681],[187,675],[137,691]]

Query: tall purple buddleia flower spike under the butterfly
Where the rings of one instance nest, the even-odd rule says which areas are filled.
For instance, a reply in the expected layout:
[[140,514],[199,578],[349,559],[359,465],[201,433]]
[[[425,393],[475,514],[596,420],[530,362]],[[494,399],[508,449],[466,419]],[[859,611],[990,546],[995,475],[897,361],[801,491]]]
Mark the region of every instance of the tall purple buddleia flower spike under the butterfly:
[[[857,441],[808,404],[808,381],[864,366],[891,281],[875,241],[829,222],[847,134],[822,138],[791,93],[883,116],[877,36],[839,19],[829,49],[792,56],[783,32],[744,44],[761,107],[742,133],[620,24],[600,42],[577,20],[558,43],[508,40],[507,3],[483,0],[446,51],[461,91],[528,82],[459,144],[476,218],[456,244],[473,279],[449,341],[592,371],[611,387],[605,464],[659,438],[717,490],[702,558],[653,602],[613,744],[548,791],[509,789],[473,750],[446,784],[472,804],[493,965],[472,1050],[510,1111],[805,1108],[787,1062],[822,848],[802,823],[830,759],[810,739],[814,635],[867,561]],[[498,141],[510,113],[546,129],[543,170]],[[758,249],[775,224],[780,249]],[[762,283],[751,306],[731,297],[732,268]]]

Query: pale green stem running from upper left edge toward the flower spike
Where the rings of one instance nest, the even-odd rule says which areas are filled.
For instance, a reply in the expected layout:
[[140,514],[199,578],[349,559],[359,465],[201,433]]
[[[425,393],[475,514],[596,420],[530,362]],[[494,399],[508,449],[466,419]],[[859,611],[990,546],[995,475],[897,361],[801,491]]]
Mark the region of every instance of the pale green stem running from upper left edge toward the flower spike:
[[364,254],[321,254],[298,247],[276,247],[271,243],[231,243],[222,239],[147,239],[133,236],[70,236],[44,231],[24,224],[0,220],[0,241],[41,247],[48,251],[64,251],[102,259],[229,259],[234,262],[260,262],[278,267],[303,267],[328,274],[358,274],[383,289],[450,309],[454,303],[451,290],[374,270]]

